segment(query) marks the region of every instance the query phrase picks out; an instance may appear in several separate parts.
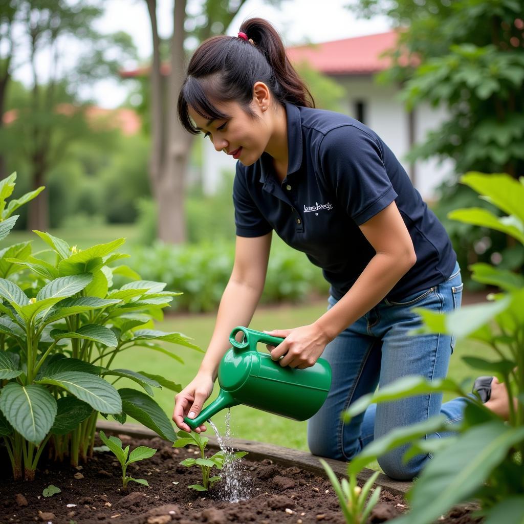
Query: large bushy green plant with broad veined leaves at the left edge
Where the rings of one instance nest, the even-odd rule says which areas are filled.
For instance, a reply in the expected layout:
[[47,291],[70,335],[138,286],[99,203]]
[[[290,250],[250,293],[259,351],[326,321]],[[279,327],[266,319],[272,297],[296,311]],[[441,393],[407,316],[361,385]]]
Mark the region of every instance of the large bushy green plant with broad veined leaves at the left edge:
[[[0,238],[19,205],[38,190],[9,202],[15,175],[0,182]],[[14,220],[13,220],[14,219]],[[176,440],[172,423],[151,398],[153,388],[180,391],[163,377],[114,368],[129,347],[160,352],[182,362],[163,343],[201,351],[189,337],[154,329],[154,320],[180,293],[163,282],[141,280],[114,253],[124,238],[88,249],[70,246],[48,233],[35,233],[49,246],[33,254],[30,242],[0,252],[0,436],[15,479],[33,479],[49,444],[54,458],[73,465],[93,453],[99,413],[124,422],[127,414],[159,436]],[[115,288],[113,278],[131,280]],[[133,380],[145,390],[121,388]]]

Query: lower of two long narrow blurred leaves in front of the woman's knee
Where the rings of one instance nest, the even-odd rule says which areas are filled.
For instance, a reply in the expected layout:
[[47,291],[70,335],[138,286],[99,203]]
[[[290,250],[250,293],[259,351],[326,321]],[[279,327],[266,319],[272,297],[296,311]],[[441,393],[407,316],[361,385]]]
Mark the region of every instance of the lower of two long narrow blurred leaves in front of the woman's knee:
[[370,442],[363,450],[353,457],[347,465],[348,473],[359,473],[370,462],[376,461],[378,457],[397,447],[415,442],[425,435],[446,429],[446,418],[444,415],[432,417],[424,422],[418,422],[402,428],[391,430],[379,439]]

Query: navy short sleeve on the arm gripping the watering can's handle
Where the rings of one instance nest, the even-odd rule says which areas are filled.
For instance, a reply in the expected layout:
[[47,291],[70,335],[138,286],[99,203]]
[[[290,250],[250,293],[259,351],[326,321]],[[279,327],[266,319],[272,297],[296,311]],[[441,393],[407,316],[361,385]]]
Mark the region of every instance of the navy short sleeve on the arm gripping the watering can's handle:
[[364,224],[397,198],[380,147],[354,125],[330,130],[322,139],[320,163],[335,198],[357,225]]

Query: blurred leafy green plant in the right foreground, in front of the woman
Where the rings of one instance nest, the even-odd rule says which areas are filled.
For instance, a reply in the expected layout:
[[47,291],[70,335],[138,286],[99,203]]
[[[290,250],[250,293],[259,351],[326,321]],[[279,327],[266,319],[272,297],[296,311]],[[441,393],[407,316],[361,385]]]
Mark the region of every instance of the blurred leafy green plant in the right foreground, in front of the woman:
[[[524,178],[517,181],[506,174],[472,172],[461,180],[504,215],[473,208],[453,211],[450,217],[504,232],[524,245]],[[467,305],[450,314],[416,309],[424,324],[419,332],[453,333],[489,348],[494,358],[475,355],[464,357],[464,361],[475,374],[493,374],[505,383],[508,421],[470,396],[464,420],[454,425],[450,438],[418,441],[439,431],[439,425],[445,428],[437,417],[416,424],[416,428],[400,428],[366,446],[352,461],[354,467],[366,463],[372,455],[371,446],[376,455],[413,442],[405,460],[418,453],[433,455],[408,494],[411,511],[395,520],[399,524],[429,524],[453,505],[473,498],[481,502],[486,524],[524,519],[524,277],[488,264],[474,264],[470,269],[475,280],[497,286],[501,292],[489,297],[487,303]],[[431,383],[421,377],[405,377],[376,394],[361,397],[346,413],[346,420],[372,402],[432,391],[467,395],[449,378]]]

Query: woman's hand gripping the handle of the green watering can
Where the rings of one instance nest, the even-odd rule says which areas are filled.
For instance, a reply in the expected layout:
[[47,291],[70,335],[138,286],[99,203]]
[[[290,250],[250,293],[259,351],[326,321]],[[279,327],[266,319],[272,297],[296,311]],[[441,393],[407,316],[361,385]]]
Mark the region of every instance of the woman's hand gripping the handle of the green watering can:
[[264,333],[285,339],[277,347],[267,346],[271,358],[275,361],[280,359],[281,366],[299,369],[313,366],[322,355],[326,344],[330,342],[328,336],[316,324]]

